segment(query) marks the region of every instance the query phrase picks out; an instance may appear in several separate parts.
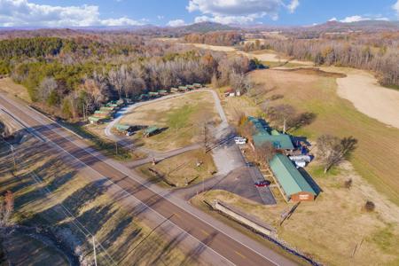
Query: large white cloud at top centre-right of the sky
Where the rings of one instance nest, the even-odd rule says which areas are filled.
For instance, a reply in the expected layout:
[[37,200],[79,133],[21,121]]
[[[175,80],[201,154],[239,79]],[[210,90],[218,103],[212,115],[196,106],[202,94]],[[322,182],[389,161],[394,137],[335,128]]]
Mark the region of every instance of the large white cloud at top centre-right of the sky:
[[190,0],[189,12],[201,12],[196,21],[215,21],[223,24],[249,23],[269,16],[278,20],[278,12],[284,7],[294,12],[299,0]]

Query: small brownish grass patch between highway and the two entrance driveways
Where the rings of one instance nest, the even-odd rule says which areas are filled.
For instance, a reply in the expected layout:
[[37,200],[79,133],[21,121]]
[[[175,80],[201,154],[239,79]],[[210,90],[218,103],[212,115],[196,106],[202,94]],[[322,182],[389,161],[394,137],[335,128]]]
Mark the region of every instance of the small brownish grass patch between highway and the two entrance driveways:
[[[201,162],[197,167],[197,162]],[[149,168],[156,170],[160,176],[156,178],[156,174],[151,172]],[[202,149],[182,153],[174,157],[162,160],[156,165],[145,164],[137,168],[144,176],[154,181],[163,182],[164,184],[172,184],[176,187],[188,184],[197,184],[202,180],[212,177],[212,173],[216,171],[214,160],[210,153],[204,153]]]

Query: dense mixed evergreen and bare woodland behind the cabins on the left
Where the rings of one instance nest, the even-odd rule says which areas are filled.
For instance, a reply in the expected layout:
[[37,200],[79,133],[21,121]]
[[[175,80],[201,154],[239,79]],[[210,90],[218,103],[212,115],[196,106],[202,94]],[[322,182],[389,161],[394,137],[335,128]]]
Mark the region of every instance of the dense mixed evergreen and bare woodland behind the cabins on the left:
[[193,82],[244,82],[254,67],[244,57],[190,49],[137,35],[14,38],[0,41],[0,74],[23,84],[36,103],[77,119],[111,98]]

